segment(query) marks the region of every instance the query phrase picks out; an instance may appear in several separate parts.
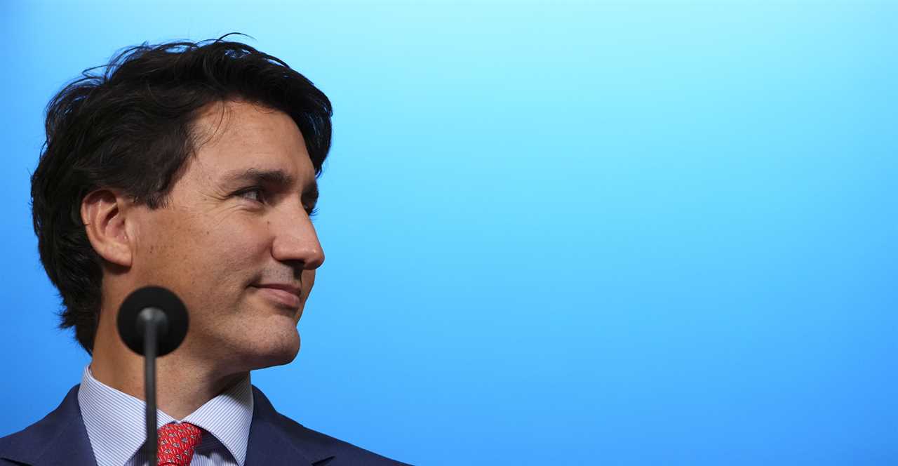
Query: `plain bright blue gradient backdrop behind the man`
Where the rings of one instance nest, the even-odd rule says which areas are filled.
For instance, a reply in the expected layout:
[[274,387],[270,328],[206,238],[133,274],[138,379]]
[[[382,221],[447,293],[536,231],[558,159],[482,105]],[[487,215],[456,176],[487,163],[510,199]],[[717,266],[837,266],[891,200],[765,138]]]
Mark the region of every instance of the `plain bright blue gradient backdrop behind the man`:
[[31,232],[42,110],[251,34],[334,105],[277,409],[416,464],[898,464],[896,3],[3,2],[0,435],[87,356]]

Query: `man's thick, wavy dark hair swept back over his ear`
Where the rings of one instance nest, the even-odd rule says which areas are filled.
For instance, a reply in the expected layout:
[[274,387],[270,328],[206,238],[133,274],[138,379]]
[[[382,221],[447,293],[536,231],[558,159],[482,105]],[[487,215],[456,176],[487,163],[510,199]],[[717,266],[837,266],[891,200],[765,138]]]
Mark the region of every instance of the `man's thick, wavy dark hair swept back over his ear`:
[[108,65],[85,70],[48,104],[47,142],[31,175],[34,233],[62,298],[59,327],[75,327],[88,353],[99,321],[102,259],[82,222],[85,195],[120,189],[138,204],[164,207],[198,149],[198,112],[216,101],[284,111],[321,174],[330,149],[328,98],[282,60],[226,37],[127,48]]

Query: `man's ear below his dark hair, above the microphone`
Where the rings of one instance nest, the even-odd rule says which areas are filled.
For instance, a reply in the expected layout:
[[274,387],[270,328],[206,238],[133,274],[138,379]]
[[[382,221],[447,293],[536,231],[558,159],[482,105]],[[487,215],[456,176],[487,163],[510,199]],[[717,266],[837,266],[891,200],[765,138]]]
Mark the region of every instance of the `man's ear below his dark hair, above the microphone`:
[[81,201],[81,220],[87,239],[100,257],[121,267],[131,267],[133,255],[126,228],[130,202],[110,189],[98,189]]

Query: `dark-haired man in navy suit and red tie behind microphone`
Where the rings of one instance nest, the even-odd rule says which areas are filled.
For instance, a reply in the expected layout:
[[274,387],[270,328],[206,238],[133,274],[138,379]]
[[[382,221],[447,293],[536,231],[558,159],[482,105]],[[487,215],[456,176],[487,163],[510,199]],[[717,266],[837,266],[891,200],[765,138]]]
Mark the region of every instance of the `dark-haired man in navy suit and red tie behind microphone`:
[[130,48],[50,102],[34,229],[61,327],[92,361],[56,410],[0,439],[0,464],[146,464],[143,358],[116,316],[147,285],[190,317],[158,360],[158,464],[401,464],[278,414],[250,384],[299,351],[330,115],[303,75],[225,40]]

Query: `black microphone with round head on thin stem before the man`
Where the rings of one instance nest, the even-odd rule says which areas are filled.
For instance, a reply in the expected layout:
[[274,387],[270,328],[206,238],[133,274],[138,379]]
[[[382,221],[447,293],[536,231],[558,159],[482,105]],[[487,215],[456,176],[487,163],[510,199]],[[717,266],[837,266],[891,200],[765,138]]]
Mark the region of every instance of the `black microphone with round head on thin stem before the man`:
[[121,303],[118,317],[119,337],[131,351],[144,356],[146,395],[145,454],[156,464],[156,357],[174,351],[187,336],[187,308],[178,295],[162,286],[145,286],[128,295]]

